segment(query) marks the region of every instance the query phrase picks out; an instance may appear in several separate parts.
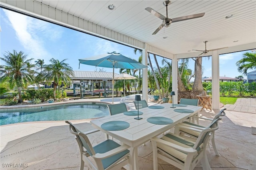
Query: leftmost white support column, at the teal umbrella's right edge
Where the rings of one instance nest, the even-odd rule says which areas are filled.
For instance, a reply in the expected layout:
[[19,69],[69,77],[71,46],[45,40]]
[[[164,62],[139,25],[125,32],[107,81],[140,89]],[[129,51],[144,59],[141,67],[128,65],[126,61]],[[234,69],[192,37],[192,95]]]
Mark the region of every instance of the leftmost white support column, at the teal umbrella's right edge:
[[[142,49],[142,64],[148,65],[148,48],[147,44],[144,44]],[[148,102],[148,68],[142,69],[142,99]]]

